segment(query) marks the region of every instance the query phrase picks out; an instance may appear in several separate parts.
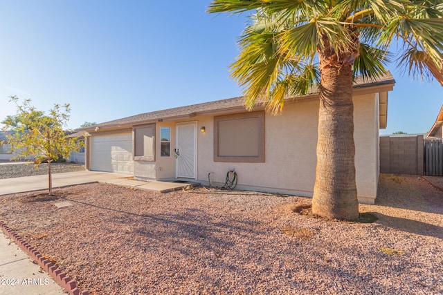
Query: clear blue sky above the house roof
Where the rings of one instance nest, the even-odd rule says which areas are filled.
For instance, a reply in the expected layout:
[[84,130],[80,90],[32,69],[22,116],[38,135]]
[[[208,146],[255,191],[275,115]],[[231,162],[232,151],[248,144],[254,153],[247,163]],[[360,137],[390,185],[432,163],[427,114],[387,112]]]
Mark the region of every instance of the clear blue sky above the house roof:
[[[209,0],[0,0],[0,120],[10,95],[39,110],[71,104],[69,128],[236,97],[228,65],[243,16],[209,15]],[[401,77],[388,128],[426,133],[443,102],[437,82]]]

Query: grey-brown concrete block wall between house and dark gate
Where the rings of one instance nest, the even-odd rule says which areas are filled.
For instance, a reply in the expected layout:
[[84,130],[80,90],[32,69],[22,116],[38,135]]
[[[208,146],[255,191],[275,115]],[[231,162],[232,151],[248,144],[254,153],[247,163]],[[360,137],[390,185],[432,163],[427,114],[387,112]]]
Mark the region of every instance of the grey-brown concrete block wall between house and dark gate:
[[423,175],[424,136],[381,136],[380,173]]

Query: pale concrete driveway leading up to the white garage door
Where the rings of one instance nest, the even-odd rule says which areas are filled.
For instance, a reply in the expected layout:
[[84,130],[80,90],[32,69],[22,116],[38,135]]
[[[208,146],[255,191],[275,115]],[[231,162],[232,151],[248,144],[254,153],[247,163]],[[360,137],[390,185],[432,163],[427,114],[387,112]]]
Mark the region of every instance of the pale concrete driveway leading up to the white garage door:
[[[91,182],[108,182],[122,180],[130,175],[98,172],[77,171],[66,173],[55,173],[52,175],[53,188],[66,187],[74,184],[85,184]],[[0,196],[10,193],[24,193],[26,191],[39,191],[48,189],[48,175],[26,176],[21,178],[6,178],[0,180]]]

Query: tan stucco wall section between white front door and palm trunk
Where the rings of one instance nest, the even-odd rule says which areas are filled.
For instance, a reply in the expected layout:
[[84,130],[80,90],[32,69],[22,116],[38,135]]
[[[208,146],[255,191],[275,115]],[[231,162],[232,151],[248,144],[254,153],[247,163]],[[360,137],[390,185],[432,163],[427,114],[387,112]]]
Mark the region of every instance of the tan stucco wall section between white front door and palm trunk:
[[316,167],[318,101],[287,104],[282,115],[265,115],[265,162],[224,163],[213,161],[212,117],[199,119],[206,133],[199,136],[198,180],[224,184],[235,169],[239,189],[312,196]]

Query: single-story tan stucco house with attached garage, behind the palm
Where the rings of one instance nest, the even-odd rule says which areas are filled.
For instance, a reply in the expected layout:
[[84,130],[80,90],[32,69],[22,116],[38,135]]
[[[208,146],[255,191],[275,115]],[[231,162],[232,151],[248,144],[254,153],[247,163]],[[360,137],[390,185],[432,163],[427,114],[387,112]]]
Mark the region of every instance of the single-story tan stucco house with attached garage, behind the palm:
[[[373,204],[379,179],[379,129],[386,128],[390,73],[354,84],[359,201]],[[318,93],[286,99],[282,115],[246,111],[242,97],[142,113],[78,129],[86,167],[137,180],[192,180],[237,189],[311,197],[316,175]]]

